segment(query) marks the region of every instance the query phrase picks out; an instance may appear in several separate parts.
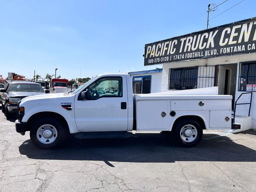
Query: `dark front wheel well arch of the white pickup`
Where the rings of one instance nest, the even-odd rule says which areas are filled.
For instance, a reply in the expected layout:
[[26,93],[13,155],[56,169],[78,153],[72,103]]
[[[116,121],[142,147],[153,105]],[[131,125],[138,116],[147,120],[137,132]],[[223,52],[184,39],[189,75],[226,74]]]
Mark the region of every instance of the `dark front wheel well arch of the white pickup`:
[[45,117],[52,117],[52,118],[56,118],[56,119],[59,119],[65,127],[68,128],[69,130],[69,127],[68,127],[68,122],[66,121],[66,119],[59,113],[55,113],[55,112],[50,112],[50,111],[46,111],[46,112],[39,112],[39,113],[36,113],[36,114],[33,114],[27,121],[27,124],[28,124],[28,127],[30,129],[30,125],[31,123],[33,123],[34,121],[36,121],[36,119],[38,118],[45,118]]

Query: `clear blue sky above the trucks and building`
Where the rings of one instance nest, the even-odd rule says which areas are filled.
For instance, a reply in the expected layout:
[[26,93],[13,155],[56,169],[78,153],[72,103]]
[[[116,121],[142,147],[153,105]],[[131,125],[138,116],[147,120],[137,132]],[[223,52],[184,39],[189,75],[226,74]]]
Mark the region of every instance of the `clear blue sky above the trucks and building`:
[[[0,74],[72,79],[149,70],[146,43],[206,28],[207,6],[224,0],[0,0]],[[212,18],[241,0],[228,0]],[[255,17],[245,0],[210,20],[210,27]],[[175,64],[177,65],[177,64]]]

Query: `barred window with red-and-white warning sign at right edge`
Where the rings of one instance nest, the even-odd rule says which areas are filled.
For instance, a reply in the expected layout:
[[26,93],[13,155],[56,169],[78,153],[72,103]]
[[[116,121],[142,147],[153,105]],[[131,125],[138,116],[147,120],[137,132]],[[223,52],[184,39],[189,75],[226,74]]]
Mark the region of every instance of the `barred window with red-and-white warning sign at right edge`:
[[256,61],[240,63],[239,91],[256,91]]

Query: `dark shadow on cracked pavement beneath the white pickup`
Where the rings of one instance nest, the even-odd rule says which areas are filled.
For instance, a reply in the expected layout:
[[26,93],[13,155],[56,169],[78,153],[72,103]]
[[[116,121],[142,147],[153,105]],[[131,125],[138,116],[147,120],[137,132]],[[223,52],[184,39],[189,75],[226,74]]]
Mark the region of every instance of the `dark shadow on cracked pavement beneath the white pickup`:
[[135,137],[125,139],[73,139],[58,150],[40,150],[27,140],[19,150],[32,159],[105,161],[110,166],[113,165],[109,161],[256,161],[255,150],[236,144],[226,136],[204,134],[194,148],[177,147],[170,138],[163,133],[136,133]]

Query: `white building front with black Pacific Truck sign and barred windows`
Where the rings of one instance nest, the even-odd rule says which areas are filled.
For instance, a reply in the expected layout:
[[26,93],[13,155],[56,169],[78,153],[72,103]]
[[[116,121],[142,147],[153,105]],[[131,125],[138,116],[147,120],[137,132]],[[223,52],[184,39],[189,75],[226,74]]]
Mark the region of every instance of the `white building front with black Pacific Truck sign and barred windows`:
[[256,129],[255,29],[250,18],[146,44],[144,65],[163,64],[162,92],[218,86],[233,96],[235,117],[250,116]]

